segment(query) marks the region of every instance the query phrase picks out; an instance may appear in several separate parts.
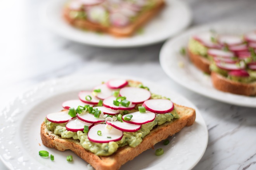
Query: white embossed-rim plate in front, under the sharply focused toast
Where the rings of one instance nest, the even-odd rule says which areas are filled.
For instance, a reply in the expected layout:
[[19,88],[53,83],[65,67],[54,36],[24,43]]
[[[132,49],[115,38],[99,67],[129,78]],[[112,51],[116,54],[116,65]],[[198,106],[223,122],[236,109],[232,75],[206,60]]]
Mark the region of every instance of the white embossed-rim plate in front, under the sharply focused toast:
[[[70,76],[41,83],[35,88],[17,97],[8,105],[0,116],[0,158],[11,170],[57,170],[87,169],[87,163],[72,151],[57,151],[42,145],[40,125],[46,114],[61,110],[65,100],[78,99],[80,90],[90,90],[102,81],[117,76],[92,75]],[[127,77],[124,77],[127,78]],[[131,77],[129,77],[131,78]],[[138,80],[137,78],[132,78]],[[90,81],[87,81],[90,80]],[[141,80],[140,80],[141,81]],[[177,104],[196,108],[181,95],[154,83],[142,81],[152,92],[171,97]],[[126,163],[122,170],[131,169],[172,169],[189,170],[201,159],[208,143],[206,124],[196,109],[196,120],[193,126],[185,127],[164,146],[162,142],[155,146],[163,148],[164,155],[155,156],[155,150],[149,149]],[[38,151],[47,150],[54,155],[42,158]],[[73,162],[67,162],[66,156],[73,155]]]

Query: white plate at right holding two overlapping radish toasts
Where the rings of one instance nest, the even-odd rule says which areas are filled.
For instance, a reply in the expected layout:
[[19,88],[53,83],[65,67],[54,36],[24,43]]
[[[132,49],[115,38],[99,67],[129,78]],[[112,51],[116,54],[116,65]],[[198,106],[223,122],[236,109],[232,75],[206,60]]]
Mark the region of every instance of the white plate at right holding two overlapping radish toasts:
[[180,54],[180,49],[187,46],[192,35],[210,29],[223,34],[242,35],[256,29],[256,26],[244,23],[214,23],[189,29],[163,45],[160,51],[160,64],[163,70],[177,83],[206,97],[229,104],[256,107],[256,97],[246,97],[216,90],[211,83],[210,76],[195,68],[188,56]]

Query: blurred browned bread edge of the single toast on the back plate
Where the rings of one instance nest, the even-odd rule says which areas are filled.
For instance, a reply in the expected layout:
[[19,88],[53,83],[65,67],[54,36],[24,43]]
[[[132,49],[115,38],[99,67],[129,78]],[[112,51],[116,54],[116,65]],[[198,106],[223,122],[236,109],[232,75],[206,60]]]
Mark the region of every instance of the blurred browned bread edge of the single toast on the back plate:
[[63,10],[63,17],[69,24],[80,29],[106,32],[116,37],[130,37],[137,31],[137,29],[142,27],[146,22],[148,22],[152,17],[154,17],[154,15],[156,15],[161,10],[161,8],[164,7],[164,5],[164,0],[156,0],[154,8],[145,11],[143,14],[138,16],[135,22],[132,22],[131,24],[125,27],[106,27],[100,24],[95,24],[86,19],[72,19],[69,16],[70,10],[67,7],[65,7]]

